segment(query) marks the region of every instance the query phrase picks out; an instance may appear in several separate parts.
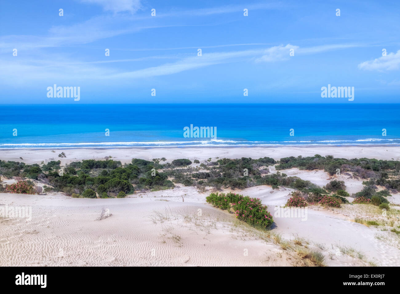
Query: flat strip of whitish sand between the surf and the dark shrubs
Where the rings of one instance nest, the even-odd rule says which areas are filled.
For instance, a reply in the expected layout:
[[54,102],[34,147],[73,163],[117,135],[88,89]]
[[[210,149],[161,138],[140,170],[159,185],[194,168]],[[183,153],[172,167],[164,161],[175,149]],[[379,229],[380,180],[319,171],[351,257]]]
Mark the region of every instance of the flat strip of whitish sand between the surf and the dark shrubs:
[[[104,156],[112,156],[114,160],[121,160],[122,163],[131,162],[132,158],[141,158],[151,160],[152,158],[165,157],[168,161],[176,158],[189,158],[190,160],[206,160],[212,158],[260,158],[270,157],[278,160],[288,156],[322,156],[333,155],[335,158],[376,158],[376,159],[394,159],[400,160],[399,147],[387,146],[315,146],[315,147],[226,147],[226,148],[76,148],[76,149],[18,149],[18,150],[0,150],[0,159],[22,161],[26,164],[38,163],[52,160],[61,160],[62,164],[82,160],[82,159],[103,159]],[[58,154],[64,152],[66,158],[59,158]],[[23,160],[20,157],[24,158]]]

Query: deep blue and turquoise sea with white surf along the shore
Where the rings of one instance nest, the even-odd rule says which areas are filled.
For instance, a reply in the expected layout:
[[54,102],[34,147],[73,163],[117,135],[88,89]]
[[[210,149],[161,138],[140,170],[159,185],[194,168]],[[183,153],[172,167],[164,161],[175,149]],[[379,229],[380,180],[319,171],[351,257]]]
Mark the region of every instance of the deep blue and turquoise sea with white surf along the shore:
[[[0,148],[400,144],[400,104],[76,103],[0,110]],[[191,124],[216,127],[216,139],[184,138]]]

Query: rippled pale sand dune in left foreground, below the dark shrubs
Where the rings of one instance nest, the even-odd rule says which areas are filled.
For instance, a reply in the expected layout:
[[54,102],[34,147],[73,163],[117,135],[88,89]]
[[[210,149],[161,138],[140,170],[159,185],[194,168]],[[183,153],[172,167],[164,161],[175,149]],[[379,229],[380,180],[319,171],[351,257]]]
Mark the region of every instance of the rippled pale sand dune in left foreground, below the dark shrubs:
[[[2,204],[33,206],[30,222],[0,220],[1,266],[301,264],[300,258],[279,246],[235,227],[232,214],[208,204],[150,198],[72,199],[59,194],[0,195]],[[112,215],[96,220],[103,206]]]

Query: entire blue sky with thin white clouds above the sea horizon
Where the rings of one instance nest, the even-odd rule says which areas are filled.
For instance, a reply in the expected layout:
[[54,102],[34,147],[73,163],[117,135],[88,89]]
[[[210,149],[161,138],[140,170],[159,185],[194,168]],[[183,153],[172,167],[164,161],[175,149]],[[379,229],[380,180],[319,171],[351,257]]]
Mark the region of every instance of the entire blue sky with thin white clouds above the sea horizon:
[[[2,1],[0,103],[397,103],[399,15],[399,1]],[[53,84],[80,101],[48,98]],[[354,101],[321,98],[328,84]]]

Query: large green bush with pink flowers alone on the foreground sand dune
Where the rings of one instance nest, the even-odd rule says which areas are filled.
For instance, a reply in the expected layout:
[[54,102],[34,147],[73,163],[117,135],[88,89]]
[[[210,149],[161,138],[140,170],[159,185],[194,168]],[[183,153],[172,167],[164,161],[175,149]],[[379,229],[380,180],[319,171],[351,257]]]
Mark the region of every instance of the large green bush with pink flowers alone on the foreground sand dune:
[[244,197],[234,193],[211,193],[206,201],[221,209],[235,210],[236,218],[254,227],[268,228],[274,220],[267,210],[267,206],[261,204],[260,198]]

